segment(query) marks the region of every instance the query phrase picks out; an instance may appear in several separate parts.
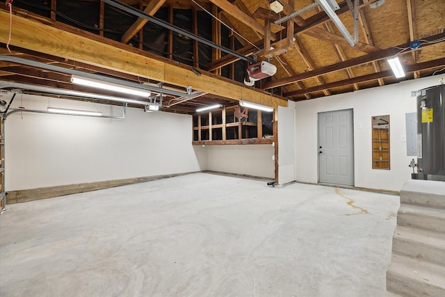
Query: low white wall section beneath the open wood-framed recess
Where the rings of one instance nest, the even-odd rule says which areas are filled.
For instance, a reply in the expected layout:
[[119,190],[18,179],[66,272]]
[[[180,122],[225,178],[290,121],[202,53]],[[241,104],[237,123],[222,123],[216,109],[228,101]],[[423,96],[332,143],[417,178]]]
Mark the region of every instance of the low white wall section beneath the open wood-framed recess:
[[206,145],[208,169],[241,175],[275,178],[272,145]]

